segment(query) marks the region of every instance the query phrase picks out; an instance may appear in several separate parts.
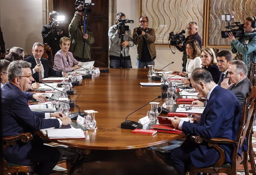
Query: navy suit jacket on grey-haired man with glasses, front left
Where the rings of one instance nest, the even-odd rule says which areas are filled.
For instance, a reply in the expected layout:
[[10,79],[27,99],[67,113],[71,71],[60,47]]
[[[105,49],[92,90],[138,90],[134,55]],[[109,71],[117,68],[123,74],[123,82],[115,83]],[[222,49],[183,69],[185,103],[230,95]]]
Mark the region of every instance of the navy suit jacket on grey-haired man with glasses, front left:
[[[14,136],[23,132],[59,127],[58,119],[43,119],[45,113],[32,112],[27,103],[27,96],[16,86],[6,83],[1,89],[2,135]],[[31,142],[17,142],[3,151],[4,158],[9,163],[29,165],[27,158],[32,148]]]

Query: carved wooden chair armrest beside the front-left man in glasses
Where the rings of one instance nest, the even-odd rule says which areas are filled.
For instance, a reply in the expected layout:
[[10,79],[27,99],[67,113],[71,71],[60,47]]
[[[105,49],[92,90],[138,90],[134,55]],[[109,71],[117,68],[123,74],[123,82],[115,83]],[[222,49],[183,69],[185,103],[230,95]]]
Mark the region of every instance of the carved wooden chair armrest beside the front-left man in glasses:
[[5,142],[4,146],[2,147],[3,150],[15,144],[15,141],[21,140],[22,142],[26,143],[33,139],[33,135],[29,132],[21,133],[16,136],[9,136],[3,137],[3,142]]

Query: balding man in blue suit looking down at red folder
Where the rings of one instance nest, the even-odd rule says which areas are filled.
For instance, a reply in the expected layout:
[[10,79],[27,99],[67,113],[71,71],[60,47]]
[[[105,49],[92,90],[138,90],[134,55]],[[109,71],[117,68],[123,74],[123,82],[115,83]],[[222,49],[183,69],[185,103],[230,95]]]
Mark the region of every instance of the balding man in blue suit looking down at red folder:
[[[205,69],[194,69],[190,80],[196,91],[207,97],[206,107],[198,124],[185,122],[175,116],[174,119],[170,119],[173,126],[182,129],[186,135],[200,135],[207,139],[227,138],[235,141],[241,113],[234,93],[216,85],[210,72]],[[224,149],[225,161],[232,162],[233,146],[222,144],[220,147]],[[156,153],[161,158],[166,158],[165,161],[173,165],[178,175],[184,175],[190,164],[197,167],[210,166],[220,157],[215,148],[209,147],[204,142],[197,144],[191,141],[190,136],[180,147],[173,149],[170,153]],[[241,155],[240,149],[239,154]]]

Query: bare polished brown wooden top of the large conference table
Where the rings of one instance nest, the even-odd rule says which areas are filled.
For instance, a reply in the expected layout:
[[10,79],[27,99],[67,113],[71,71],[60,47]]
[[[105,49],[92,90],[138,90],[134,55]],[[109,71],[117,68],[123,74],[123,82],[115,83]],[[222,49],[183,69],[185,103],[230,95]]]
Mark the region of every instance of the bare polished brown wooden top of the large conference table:
[[[132,111],[140,108],[161,95],[160,86],[142,87],[140,82],[151,81],[148,69],[109,69],[109,73],[100,73],[92,79],[83,79],[80,86],[73,86],[71,99],[83,110],[96,110],[96,130],[85,132],[85,139],[51,140],[63,145],[85,149],[125,150],[146,148],[184,137],[184,134],[157,132],[155,135],[131,133],[130,129],[121,129],[121,123]],[[157,99],[154,102],[158,102]],[[162,105],[164,99],[160,102]],[[150,104],[133,113],[128,120],[138,122],[146,116]],[[77,112],[74,108],[73,112]],[[43,138],[43,136],[38,133]]]

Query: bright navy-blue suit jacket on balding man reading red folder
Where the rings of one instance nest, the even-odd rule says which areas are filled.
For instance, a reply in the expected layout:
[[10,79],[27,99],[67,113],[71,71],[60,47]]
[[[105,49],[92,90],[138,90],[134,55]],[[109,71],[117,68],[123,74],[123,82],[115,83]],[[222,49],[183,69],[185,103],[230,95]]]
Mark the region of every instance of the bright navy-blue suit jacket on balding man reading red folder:
[[[182,131],[186,134],[200,135],[204,138],[227,138],[236,140],[241,119],[239,102],[230,90],[216,86],[207,100],[207,105],[198,124],[184,122]],[[191,144],[190,137],[181,145],[189,148],[192,163],[197,167],[213,165],[219,159],[219,153],[207,143]],[[232,162],[233,146],[221,144],[226,161]],[[241,155],[241,149],[239,148]]]

